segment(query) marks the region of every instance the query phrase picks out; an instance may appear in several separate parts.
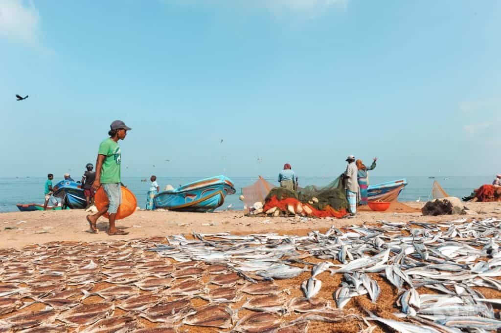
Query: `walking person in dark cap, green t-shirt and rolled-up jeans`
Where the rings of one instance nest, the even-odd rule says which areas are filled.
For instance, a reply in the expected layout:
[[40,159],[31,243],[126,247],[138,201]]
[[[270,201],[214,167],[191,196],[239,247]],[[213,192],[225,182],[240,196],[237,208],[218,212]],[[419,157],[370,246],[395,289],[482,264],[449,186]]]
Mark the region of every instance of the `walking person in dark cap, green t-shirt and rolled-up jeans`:
[[110,131],[108,131],[110,137],[104,139],[99,145],[96,161],[96,179],[92,184],[92,187],[96,191],[100,186],[103,186],[110,203],[94,215],[87,215],[87,221],[89,222],[91,231],[97,232],[97,219],[108,211],[108,219],[110,221],[108,234],[123,235],[128,234],[128,232],[117,229],[115,226],[117,210],[120,203],[122,203],[122,189],[120,187],[121,151],[118,140],[123,140],[127,135],[127,131],[132,128],[126,126],[122,120],[113,121],[110,128]]

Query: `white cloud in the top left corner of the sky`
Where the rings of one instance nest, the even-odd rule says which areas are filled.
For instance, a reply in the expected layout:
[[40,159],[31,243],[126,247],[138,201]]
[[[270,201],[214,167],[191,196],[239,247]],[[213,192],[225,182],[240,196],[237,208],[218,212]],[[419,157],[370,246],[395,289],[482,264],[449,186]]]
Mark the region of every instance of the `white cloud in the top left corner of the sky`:
[[37,45],[39,21],[33,1],[0,0],[0,37]]

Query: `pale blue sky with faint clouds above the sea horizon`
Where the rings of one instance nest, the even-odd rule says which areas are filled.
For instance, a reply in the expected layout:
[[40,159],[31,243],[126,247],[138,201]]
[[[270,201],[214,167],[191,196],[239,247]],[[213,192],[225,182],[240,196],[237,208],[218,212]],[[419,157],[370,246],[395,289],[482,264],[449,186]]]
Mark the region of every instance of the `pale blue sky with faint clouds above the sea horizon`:
[[[0,0],[0,176],[501,172],[501,2]],[[29,94],[17,101],[15,94]],[[222,139],[222,142],[221,142]]]

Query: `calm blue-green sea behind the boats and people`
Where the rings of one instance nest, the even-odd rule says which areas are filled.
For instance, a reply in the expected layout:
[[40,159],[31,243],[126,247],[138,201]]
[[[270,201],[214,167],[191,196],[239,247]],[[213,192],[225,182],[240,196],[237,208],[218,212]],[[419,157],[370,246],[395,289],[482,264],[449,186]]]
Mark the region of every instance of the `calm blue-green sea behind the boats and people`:
[[[256,177],[230,177],[235,184],[236,193],[228,195],[224,201],[224,205],[219,209],[225,208],[228,204],[232,204],[231,209],[242,209],[243,203],[238,199],[241,193],[241,188],[254,183]],[[371,184],[379,182],[395,180],[403,178],[401,176],[381,177],[371,176]],[[426,200],[430,194],[431,185],[434,179],[428,177],[406,177],[409,183],[399,196],[400,201],[415,201],[418,198]],[[46,177],[26,177],[26,178],[1,178],[0,177],[0,211],[17,211],[16,203],[43,203],[44,202],[44,182]],[[180,184],[186,184],[191,181],[200,179],[200,177],[183,177],[169,178],[158,177],[157,182],[162,190],[166,184],[171,184],[177,187]],[[54,179],[53,183],[62,179]],[[75,179],[79,180],[79,179]],[[278,184],[277,179],[269,178],[268,181]],[[300,186],[318,185],[322,186],[329,183],[333,178],[326,177],[304,177],[300,178]],[[449,195],[462,197],[469,195],[473,188],[477,188],[484,183],[490,183],[492,179],[488,176],[442,176],[436,177],[436,180],[447,191]],[[141,181],[141,178],[124,178],[123,183],[134,192],[138,205],[144,207],[146,205],[146,191],[150,186],[150,181]]]

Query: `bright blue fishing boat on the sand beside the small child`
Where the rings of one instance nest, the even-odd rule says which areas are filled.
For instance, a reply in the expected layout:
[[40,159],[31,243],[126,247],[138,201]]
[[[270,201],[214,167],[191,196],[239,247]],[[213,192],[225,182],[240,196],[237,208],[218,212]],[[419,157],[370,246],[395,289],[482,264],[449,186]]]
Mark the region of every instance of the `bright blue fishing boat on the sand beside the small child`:
[[226,195],[233,193],[231,179],[219,175],[157,193],[154,200],[157,208],[205,212],[214,211],[223,204]]

